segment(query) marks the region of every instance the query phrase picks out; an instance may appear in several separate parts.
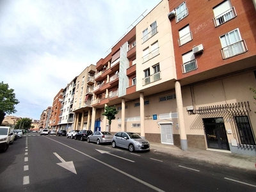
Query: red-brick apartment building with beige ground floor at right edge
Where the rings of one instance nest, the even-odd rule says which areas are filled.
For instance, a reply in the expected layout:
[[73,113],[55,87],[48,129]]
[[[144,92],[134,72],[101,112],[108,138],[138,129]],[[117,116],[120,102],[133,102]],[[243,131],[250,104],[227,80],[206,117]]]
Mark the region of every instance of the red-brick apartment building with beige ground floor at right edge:
[[253,3],[169,1],[189,147],[256,155]]

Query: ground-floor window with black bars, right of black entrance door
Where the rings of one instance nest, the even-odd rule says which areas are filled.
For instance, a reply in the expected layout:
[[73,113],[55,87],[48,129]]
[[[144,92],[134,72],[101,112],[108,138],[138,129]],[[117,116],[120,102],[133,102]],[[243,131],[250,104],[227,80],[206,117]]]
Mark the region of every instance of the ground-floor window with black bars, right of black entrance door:
[[252,128],[249,123],[248,116],[235,116],[236,125],[240,137],[241,144],[255,145]]

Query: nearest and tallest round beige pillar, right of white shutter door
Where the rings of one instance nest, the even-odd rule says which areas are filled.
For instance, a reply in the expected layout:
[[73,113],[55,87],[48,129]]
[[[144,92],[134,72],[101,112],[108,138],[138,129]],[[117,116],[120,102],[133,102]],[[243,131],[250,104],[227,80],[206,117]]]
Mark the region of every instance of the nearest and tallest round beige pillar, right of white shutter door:
[[186,135],[185,121],[184,121],[181,86],[179,81],[175,82],[175,93],[176,93],[177,111],[179,116],[180,145],[182,150],[188,150],[188,141],[187,141],[187,135]]

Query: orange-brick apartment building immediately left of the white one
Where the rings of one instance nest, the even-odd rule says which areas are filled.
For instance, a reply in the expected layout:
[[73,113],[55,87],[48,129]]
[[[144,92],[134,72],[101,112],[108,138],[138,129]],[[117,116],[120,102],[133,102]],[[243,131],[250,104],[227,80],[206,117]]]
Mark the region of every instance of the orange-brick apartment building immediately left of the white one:
[[54,97],[52,102],[52,110],[49,118],[49,127],[51,130],[58,130],[58,122],[60,121],[61,102],[63,101],[63,89],[61,89]]

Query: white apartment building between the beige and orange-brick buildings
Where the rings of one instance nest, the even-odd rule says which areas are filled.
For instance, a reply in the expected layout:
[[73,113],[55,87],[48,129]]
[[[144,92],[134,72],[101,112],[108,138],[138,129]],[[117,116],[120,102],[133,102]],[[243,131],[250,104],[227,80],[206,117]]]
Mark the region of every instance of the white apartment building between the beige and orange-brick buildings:
[[60,118],[58,122],[58,130],[62,129],[72,129],[74,127],[74,113],[72,112],[72,107],[74,104],[74,94],[76,90],[76,79],[77,76],[67,84],[63,89],[62,102],[60,108]]

